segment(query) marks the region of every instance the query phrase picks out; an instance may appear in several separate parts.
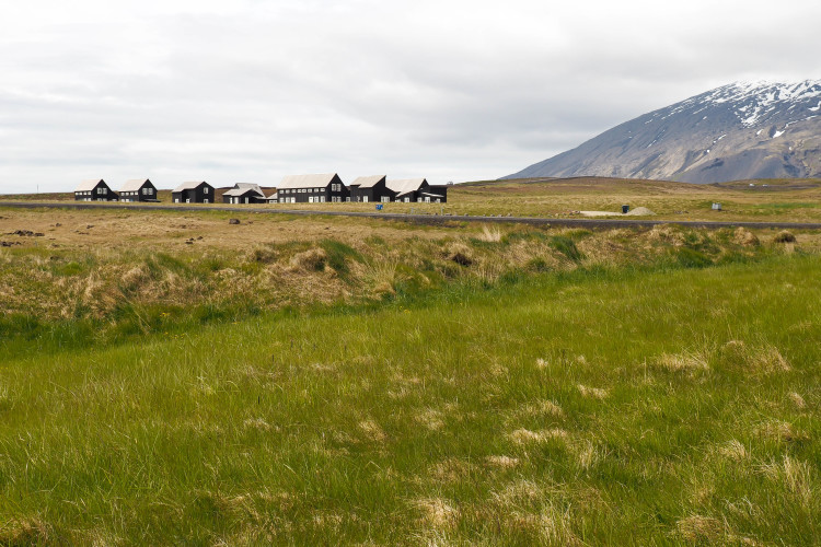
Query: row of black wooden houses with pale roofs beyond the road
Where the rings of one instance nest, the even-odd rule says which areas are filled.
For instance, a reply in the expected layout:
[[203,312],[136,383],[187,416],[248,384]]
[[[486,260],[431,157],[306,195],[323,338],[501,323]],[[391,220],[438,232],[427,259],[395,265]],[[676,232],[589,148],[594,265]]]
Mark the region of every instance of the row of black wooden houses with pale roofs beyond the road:
[[[213,203],[217,190],[206,182],[183,183],[171,191],[175,203]],[[83,181],[74,190],[78,201],[158,201],[157,187],[148,178],[127,181],[113,190],[102,178]],[[448,187],[425,178],[389,179],[384,175],[359,177],[346,185],[336,173],[291,175],[276,191],[265,195],[256,184],[238,183],[222,193],[223,203],[325,203],[325,202],[429,202],[448,201]]]

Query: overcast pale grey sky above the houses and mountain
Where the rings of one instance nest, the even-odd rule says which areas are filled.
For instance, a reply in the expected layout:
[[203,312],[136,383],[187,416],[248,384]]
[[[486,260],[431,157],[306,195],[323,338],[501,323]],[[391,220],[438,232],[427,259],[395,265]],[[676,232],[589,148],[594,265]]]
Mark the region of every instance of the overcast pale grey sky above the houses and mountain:
[[0,193],[497,178],[735,80],[821,78],[821,2],[3,2]]

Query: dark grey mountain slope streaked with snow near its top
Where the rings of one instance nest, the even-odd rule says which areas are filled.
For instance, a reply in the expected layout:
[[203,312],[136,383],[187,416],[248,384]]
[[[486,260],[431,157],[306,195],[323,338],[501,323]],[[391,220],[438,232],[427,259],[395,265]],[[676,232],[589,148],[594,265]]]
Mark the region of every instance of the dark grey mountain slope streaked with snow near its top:
[[692,183],[821,176],[821,80],[725,85],[505,178],[582,175]]

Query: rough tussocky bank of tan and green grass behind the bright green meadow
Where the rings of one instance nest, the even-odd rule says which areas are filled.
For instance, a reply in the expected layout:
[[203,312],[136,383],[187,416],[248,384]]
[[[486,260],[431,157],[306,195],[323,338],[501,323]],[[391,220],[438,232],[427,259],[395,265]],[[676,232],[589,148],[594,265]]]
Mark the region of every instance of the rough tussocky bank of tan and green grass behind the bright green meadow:
[[[205,223],[204,217],[197,221]],[[278,224],[273,226],[281,229]],[[206,233],[206,242],[210,237],[207,230],[197,232]],[[704,267],[796,248],[774,243],[768,233],[760,241],[743,229],[677,226],[605,232],[474,226],[402,240],[383,238],[378,229],[365,231],[365,237],[327,233],[248,244],[239,252],[235,240],[223,248],[150,237],[144,246],[89,248],[70,234],[58,240],[66,243],[0,248],[0,351],[99,347],[264,312],[371,305],[537,272]],[[799,249],[818,245],[813,235],[799,240]]]

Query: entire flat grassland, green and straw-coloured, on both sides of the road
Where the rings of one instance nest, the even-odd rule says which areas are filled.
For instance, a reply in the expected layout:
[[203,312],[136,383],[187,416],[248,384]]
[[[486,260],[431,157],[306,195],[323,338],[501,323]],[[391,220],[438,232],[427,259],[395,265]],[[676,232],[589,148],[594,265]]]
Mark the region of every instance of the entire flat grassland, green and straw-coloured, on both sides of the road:
[[[448,206],[627,196],[551,184]],[[821,536],[817,232],[0,207],[0,545]]]

